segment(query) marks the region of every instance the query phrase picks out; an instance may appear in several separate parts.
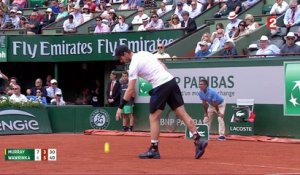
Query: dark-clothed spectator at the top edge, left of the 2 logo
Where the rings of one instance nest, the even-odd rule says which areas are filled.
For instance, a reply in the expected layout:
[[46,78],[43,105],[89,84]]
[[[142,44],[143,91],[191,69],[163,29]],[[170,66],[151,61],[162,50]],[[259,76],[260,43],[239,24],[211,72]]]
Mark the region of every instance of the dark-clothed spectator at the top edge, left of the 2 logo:
[[240,0],[228,0],[215,14],[215,18],[227,16],[230,12],[235,12],[235,14],[239,14],[241,12],[241,9],[242,3]]

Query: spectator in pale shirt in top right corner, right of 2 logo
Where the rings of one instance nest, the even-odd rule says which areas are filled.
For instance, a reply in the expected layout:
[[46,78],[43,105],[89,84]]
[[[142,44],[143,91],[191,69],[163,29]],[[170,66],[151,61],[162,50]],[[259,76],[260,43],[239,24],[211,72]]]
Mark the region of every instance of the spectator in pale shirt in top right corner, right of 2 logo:
[[290,8],[285,12],[283,22],[287,28],[300,25],[300,7],[297,0],[290,1]]

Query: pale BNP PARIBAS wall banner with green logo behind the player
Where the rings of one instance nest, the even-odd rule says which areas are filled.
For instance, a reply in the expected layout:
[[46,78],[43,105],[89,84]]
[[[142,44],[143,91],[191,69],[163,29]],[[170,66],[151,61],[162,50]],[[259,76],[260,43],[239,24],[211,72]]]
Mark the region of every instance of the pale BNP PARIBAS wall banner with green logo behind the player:
[[[185,103],[201,103],[197,95],[201,79],[207,79],[210,87],[215,88],[226,103],[236,103],[236,99],[245,98],[254,99],[255,104],[284,103],[283,66],[182,68],[169,71],[174,75]],[[149,86],[143,80],[139,80],[139,91],[136,102],[149,102],[149,96],[145,96]]]

